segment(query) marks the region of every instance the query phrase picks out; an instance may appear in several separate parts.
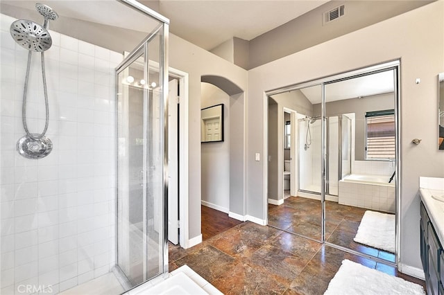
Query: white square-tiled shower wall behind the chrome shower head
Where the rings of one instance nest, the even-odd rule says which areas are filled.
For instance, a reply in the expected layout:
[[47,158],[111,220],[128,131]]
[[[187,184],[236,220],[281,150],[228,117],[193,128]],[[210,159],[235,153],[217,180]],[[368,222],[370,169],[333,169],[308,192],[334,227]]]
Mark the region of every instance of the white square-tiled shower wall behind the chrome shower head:
[[[43,159],[25,159],[15,144],[24,135],[28,51],[10,36],[14,20],[0,17],[0,293],[26,294],[22,285],[51,286],[57,293],[114,265],[114,67],[122,55],[51,31],[53,45],[45,52],[46,135],[53,151]],[[33,53],[31,132],[44,127],[40,69],[40,54]]]

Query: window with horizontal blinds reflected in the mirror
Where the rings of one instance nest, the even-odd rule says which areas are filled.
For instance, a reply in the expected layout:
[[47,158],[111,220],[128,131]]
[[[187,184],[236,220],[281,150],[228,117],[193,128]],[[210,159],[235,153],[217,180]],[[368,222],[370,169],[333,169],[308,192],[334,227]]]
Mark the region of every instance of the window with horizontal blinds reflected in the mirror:
[[395,159],[395,111],[366,112],[366,159]]

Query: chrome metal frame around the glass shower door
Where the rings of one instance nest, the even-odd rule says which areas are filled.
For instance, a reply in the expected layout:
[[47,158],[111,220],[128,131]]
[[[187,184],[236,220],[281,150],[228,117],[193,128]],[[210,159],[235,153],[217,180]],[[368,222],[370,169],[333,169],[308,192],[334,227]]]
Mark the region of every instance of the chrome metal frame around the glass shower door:
[[[162,231],[160,233],[160,244],[162,249],[162,271],[160,271],[159,274],[151,277],[151,278],[144,278],[144,281],[142,283],[139,283],[137,285],[142,285],[143,283],[146,283],[149,280],[152,280],[153,278],[156,278],[158,276],[166,276],[169,271],[169,263],[168,263],[168,92],[169,92],[169,60],[168,60],[168,44],[169,44],[169,19],[166,17],[163,17],[159,13],[155,12],[154,10],[151,10],[150,8],[147,8],[143,4],[135,1],[135,0],[117,0],[127,6],[130,6],[130,8],[133,8],[135,10],[138,10],[139,12],[142,12],[143,14],[147,15],[148,17],[151,17],[157,21],[159,21],[159,25],[147,35],[147,37],[137,45],[133,51],[131,51],[124,59],[123,61],[116,67],[115,73],[116,73],[116,93],[118,93],[119,88],[119,77],[118,74],[126,69],[130,64],[133,62],[136,62],[136,60],[144,56],[146,57],[144,60],[144,71],[146,73],[149,73],[149,64],[148,64],[148,44],[151,42],[151,40],[157,36],[157,34],[160,35],[160,56],[159,56],[159,78],[160,78],[160,87],[162,89],[162,94],[160,96],[160,125],[163,127],[163,132],[161,132],[161,145],[162,145],[162,197],[160,198],[160,202],[162,203],[161,206],[163,208],[163,211],[161,213],[161,220],[162,222]],[[147,91],[144,91],[144,100],[146,100]],[[118,104],[116,103],[116,122],[117,122],[117,116],[118,116]],[[145,112],[144,112],[145,113]],[[146,125],[146,114],[144,114],[144,125]],[[118,132],[118,125],[116,124],[116,129],[114,132]],[[145,135],[144,135],[145,136]],[[116,138],[116,149],[118,146],[118,138]],[[117,154],[118,156],[118,154]],[[144,147],[144,158],[146,158],[146,145]],[[144,161],[146,163],[146,161]],[[118,161],[116,161],[116,170],[118,171]],[[146,179],[146,169],[144,169],[144,179]],[[118,181],[116,180],[116,195],[118,194],[118,187],[117,187]],[[117,195],[118,196],[118,195]],[[146,189],[144,188],[144,204],[146,202]],[[137,287],[137,285],[131,285],[128,278],[126,278],[126,275],[121,270],[121,268],[118,265],[118,204],[116,200],[116,265],[114,267],[114,271],[117,272],[117,277],[120,280],[120,283],[123,285],[123,287],[126,288],[126,292],[129,289],[132,289],[134,287]],[[146,210],[144,210],[144,213]],[[146,216],[144,216],[144,228],[146,227]],[[147,247],[146,244],[146,235],[144,236],[144,247]],[[145,257],[146,258],[146,257]],[[146,259],[145,259],[146,260]],[[146,262],[144,262],[145,265]],[[144,276],[146,276],[146,273],[144,273]]]

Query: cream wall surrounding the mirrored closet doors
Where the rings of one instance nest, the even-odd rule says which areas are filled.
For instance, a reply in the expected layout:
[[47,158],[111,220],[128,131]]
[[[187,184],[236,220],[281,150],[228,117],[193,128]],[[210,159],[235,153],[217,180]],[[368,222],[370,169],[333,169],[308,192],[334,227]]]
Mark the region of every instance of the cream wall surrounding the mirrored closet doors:
[[[437,74],[444,71],[444,1],[248,71],[248,215],[266,219],[265,164],[255,161],[256,152],[266,152],[264,91],[395,59],[401,60],[400,271],[422,269],[419,177],[444,177],[444,153],[436,147]],[[422,138],[421,144],[412,145],[413,138]]]

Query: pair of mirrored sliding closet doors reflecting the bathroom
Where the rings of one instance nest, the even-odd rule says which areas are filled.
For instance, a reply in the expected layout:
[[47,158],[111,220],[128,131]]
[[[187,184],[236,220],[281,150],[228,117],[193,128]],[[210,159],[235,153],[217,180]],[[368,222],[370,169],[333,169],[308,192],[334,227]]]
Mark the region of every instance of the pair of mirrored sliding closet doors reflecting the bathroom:
[[268,225],[396,263],[398,66],[268,96]]

